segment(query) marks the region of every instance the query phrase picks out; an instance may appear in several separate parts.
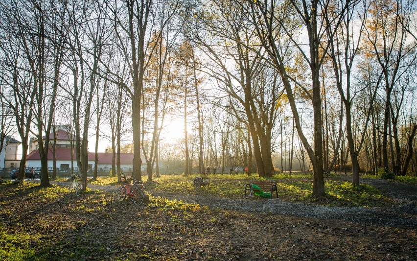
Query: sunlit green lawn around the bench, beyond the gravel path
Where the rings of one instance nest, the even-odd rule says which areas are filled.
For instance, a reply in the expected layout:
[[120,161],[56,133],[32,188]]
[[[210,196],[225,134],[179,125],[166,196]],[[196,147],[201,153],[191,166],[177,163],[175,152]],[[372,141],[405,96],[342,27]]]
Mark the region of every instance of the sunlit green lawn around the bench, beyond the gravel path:
[[[199,175],[161,175],[153,177],[147,182],[147,176],[142,176],[147,191],[166,191],[185,193],[188,195],[219,196],[239,199],[244,196],[245,185],[252,180],[265,180],[264,178],[248,176],[247,174],[208,174],[203,177],[210,179],[208,188],[195,189],[193,179]],[[370,185],[361,184],[352,186],[347,175],[331,174],[324,178],[326,196],[312,197],[312,174],[293,172],[292,175],[277,174],[268,180],[277,181],[278,200],[284,202],[301,202],[323,206],[344,207],[385,207],[395,204],[390,197],[383,195]],[[91,182],[96,185],[117,185],[117,177],[101,177]],[[256,184],[256,182],[255,182]]]

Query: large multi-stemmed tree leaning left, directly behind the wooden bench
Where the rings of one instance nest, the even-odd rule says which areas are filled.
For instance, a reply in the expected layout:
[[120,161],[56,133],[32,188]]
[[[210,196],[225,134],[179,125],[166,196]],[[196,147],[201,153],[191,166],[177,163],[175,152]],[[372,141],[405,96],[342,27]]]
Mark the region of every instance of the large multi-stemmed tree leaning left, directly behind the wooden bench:
[[216,16],[201,10],[185,34],[210,60],[201,70],[219,84],[234,117],[248,124],[259,175],[271,176],[271,136],[277,117],[274,102],[281,94],[278,73],[268,69],[262,58],[266,51],[253,41],[256,36],[245,6],[221,1],[206,8]]

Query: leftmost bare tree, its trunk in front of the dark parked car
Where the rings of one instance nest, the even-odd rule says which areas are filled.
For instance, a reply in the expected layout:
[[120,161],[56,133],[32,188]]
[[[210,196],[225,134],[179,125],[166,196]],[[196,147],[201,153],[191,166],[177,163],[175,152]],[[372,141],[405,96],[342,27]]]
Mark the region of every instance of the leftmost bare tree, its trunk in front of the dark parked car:
[[[27,11],[27,13],[26,13]],[[33,119],[35,95],[38,92],[40,77],[43,73],[39,67],[42,64],[38,58],[44,55],[44,37],[35,33],[31,37],[32,28],[37,28],[35,21],[27,19],[26,15],[33,15],[30,3],[21,4],[18,1],[8,1],[0,4],[1,64],[3,73],[1,79],[8,91],[1,93],[2,100],[13,111],[16,127],[22,139],[22,160],[18,180],[24,179],[26,153],[28,150],[28,136]],[[25,14],[24,14],[25,13]],[[36,25],[35,25],[36,24]]]

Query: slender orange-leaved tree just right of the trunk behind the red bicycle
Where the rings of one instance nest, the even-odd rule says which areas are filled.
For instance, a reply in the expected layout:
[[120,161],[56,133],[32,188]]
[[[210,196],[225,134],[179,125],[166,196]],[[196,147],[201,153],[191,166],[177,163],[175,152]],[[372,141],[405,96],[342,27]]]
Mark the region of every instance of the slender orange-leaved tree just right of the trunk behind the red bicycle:
[[[155,18],[157,20],[156,26],[153,29],[151,38],[151,48],[149,53],[149,64],[145,71],[145,82],[147,88],[143,92],[143,106],[142,111],[146,108],[150,110],[148,115],[153,115],[153,119],[149,119],[151,122],[150,142],[148,142],[148,152],[145,150],[145,146],[142,145],[142,151],[144,153],[147,163],[147,175],[148,181],[152,181],[152,173],[156,164],[156,175],[159,176],[159,164],[158,164],[158,149],[159,139],[165,119],[165,110],[168,102],[168,91],[171,85],[171,73],[172,66],[172,52],[176,39],[179,35],[180,28],[174,28],[174,18],[180,17],[177,15],[179,10],[179,2],[162,2],[156,6]],[[175,20],[179,24],[183,22]],[[146,95],[146,97],[145,97]],[[146,98],[146,103],[145,103]],[[145,116],[145,114],[143,114]],[[145,117],[142,120],[142,142],[144,142],[144,123]]]

